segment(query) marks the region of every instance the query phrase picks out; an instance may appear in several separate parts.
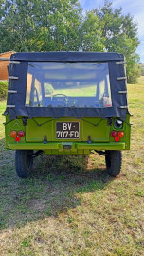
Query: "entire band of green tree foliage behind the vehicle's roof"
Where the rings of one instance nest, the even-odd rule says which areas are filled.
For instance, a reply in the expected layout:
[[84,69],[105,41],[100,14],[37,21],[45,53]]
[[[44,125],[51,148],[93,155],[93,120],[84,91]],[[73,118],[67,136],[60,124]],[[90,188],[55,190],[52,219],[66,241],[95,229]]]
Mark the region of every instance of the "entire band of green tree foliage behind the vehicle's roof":
[[0,0],[0,52],[109,51],[126,57],[138,76],[137,26],[112,3],[83,14],[78,0]]

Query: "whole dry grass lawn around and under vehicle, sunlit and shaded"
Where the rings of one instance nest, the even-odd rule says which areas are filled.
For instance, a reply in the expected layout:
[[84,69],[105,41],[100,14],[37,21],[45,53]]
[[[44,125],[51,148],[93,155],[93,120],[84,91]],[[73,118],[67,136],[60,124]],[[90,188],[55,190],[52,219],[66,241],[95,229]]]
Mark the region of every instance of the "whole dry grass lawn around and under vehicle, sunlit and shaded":
[[18,179],[0,115],[0,255],[144,255],[144,77],[128,92],[131,151],[116,179],[95,154],[40,156]]

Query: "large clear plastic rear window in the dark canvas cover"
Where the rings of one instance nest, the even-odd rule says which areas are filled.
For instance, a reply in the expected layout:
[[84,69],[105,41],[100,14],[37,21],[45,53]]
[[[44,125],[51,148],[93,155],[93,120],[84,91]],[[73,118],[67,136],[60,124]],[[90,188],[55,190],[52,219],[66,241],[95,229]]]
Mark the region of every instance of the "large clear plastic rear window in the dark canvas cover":
[[108,63],[29,62],[26,106],[111,107]]

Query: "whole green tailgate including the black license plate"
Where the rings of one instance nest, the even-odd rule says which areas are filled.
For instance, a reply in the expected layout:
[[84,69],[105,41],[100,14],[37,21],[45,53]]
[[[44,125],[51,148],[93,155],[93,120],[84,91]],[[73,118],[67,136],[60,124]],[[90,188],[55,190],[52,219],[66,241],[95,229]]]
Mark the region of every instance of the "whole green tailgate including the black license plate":
[[27,119],[26,141],[49,142],[77,141],[109,142],[110,126],[107,119]]

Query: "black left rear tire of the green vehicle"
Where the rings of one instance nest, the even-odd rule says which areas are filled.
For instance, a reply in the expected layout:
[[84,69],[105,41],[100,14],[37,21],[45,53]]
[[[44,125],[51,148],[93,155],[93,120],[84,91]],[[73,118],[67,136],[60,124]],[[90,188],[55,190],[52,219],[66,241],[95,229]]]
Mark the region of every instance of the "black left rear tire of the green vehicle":
[[32,150],[16,150],[15,170],[20,178],[27,178],[33,165]]

